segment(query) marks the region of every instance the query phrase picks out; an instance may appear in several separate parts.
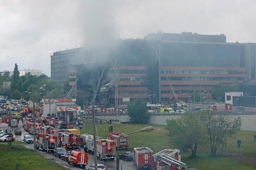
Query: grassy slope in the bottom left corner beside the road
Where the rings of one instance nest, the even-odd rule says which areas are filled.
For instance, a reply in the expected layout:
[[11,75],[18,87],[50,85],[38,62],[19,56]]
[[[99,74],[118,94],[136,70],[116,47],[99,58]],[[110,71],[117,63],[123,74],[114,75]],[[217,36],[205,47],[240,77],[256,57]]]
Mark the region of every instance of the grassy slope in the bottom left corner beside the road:
[[11,147],[8,147],[4,143],[0,144],[0,163],[2,170],[65,169],[57,163],[46,160],[37,151],[31,151],[22,145],[15,145],[15,143],[18,142],[13,142]]

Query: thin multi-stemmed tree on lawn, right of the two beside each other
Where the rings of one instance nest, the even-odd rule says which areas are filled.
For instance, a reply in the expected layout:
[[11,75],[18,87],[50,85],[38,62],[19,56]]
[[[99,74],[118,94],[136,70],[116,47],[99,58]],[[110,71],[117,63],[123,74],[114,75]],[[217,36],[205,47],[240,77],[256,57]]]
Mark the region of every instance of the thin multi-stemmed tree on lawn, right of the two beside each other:
[[212,155],[216,155],[219,146],[226,146],[227,137],[232,137],[241,128],[241,117],[230,120],[225,113],[216,115],[211,111],[205,111],[200,114],[200,119],[207,129],[207,135],[211,146]]

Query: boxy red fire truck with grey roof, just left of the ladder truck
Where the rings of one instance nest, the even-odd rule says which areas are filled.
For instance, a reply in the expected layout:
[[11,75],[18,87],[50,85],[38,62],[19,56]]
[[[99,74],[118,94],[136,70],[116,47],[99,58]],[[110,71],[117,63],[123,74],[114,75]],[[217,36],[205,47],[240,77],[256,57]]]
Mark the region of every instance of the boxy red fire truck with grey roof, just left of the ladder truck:
[[151,166],[153,151],[148,147],[133,149],[133,163],[137,168],[149,168]]

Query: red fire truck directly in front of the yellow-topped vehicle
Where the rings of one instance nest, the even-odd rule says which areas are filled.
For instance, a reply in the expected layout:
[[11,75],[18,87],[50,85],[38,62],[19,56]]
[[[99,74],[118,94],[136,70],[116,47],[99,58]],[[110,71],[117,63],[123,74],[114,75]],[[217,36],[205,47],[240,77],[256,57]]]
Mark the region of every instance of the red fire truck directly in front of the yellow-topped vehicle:
[[80,138],[75,133],[63,132],[60,143],[66,148],[78,148],[80,146]]

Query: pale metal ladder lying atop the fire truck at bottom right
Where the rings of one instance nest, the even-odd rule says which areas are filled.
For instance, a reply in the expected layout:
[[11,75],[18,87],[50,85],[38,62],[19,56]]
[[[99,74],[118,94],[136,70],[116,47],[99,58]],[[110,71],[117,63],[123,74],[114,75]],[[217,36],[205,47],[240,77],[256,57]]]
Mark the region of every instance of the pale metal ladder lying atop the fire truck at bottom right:
[[155,160],[160,160],[170,166],[174,164],[177,169],[187,169],[187,165],[185,163],[177,161],[168,155],[156,155]]

